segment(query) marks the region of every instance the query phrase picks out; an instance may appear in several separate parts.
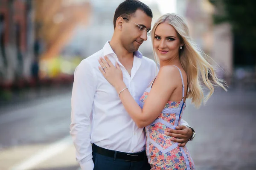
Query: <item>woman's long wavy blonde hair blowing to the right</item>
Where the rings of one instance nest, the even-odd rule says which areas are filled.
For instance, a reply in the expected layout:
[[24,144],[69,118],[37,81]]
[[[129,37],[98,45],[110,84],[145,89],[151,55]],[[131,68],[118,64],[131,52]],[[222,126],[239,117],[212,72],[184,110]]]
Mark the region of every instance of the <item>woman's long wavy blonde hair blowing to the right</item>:
[[[169,23],[175,28],[180,41],[183,43],[183,47],[180,50],[180,62],[187,74],[188,80],[188,92],[186,98],[192,99],[192,103],[196,107],[201,105],[201,102],[207,102],[209,97],[214,92],[213,86],[221,86],[225,91],[225,82],[218,79],[214,68],[205,59],[208,57],[203,51],[201,51],[189,37],[189,29],[183,17],[178,14],[164,14],[154,24],[151,31],[152,43],[154,42],[154,36],[157,26],[160,23]],[[159,63],[156,52],[154,51],[154,59]],[[207,96],[204,96],[203,84],[209,89]]]

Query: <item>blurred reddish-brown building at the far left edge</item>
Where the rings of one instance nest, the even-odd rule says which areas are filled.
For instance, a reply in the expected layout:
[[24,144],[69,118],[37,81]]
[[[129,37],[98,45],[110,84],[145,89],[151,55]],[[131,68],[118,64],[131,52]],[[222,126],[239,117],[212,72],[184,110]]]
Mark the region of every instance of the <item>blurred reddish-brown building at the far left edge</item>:
[[32,0],[0,0],[0,85],[28,75],[32,39]]

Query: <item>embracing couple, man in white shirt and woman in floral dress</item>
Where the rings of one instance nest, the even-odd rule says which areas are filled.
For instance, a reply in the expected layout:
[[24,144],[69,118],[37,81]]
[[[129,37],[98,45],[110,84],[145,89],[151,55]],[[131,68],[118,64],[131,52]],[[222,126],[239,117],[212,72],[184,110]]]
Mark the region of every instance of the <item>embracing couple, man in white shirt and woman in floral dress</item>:
[[[182,119],[186,99],[200,106],[223,82],[183,17],[164,14],[151,30],[152,17],[144,3],[122,2],[111,41],[76,68],[70,134],[82,170],[195,169],[185,146],[195,137]],[[149,33],[159,68],[138,51]]]

